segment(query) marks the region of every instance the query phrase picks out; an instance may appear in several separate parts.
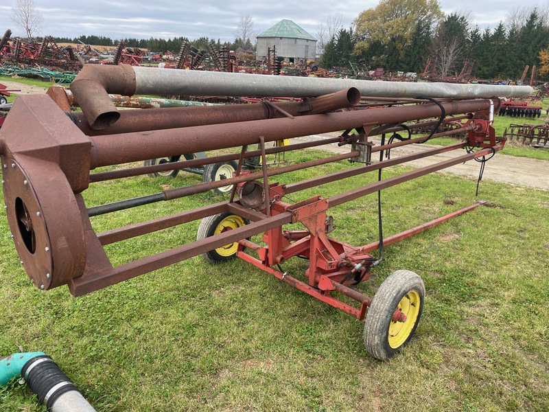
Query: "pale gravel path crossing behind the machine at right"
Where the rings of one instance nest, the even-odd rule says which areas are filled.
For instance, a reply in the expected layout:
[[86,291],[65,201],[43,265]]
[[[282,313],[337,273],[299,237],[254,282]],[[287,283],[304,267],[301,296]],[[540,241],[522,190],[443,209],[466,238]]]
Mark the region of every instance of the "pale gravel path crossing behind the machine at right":
[[[326,139],[327,137],[334,137],[338,134],[329,133],[326,135],[313,135],[307,137],[299,137],[297,139],[292,139],[292,142],[298,143],[299,141],[312,141],[318,139]],[[375,139],[373,140],[375,141]],[[376,141],[375,141],[376,142]],[[379,141],[376,142],[379,144]],[[323,149],[328,150],[334,153],[347,153],[349,152],[349,147],[339,147],[337,144],[329,144],[322,146]],[[412,155],[414,153],[424,152],[429,148],[435,148],[436,146],[426,146],[419,144],[410,144],[408,146],[403,146],[401,148],[394,148],[391,150],[391,158]],[[539,149],[546,150],[546,149]],[[464,155],[463,150],[454,150],[452,152],[445,152],[441,155],[435,155],[425,159],[419,159],[405,163],[406,165],[413,165],[417,168],[422,168],[423,166],[432,165],[439,161],[444,161],[447,159],[452,159],[453,157],[458,157]],[[377,155],[377,154],[376,154]],[[497,153],[492,159],[490,159],[484,168],[484,174],[482,179],[489,179],[491,181],[498,181],[504,183],[512,183],[515,185],[537,187],[539,189],[548,190],[549,189],[549,161],[537,160],[537,159],[528,159],[526,157],[515,157],[501,155]],[[462,174],[464,176],[471,176],[478,178],[478,173],[480,171],[480,163],[476,161],[468,161],[459,165],[452,166],[438,173],[454,173]]]

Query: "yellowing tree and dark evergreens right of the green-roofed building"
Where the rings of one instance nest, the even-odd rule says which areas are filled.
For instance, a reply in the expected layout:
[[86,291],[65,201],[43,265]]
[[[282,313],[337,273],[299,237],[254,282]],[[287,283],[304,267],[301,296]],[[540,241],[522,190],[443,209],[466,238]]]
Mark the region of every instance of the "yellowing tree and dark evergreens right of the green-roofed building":
[[471,13],[443,14],[436,0],[382,0],[330,38],[322,65],[365,62],[386,71],[423,73],[430,63],[433,73],[455,76],[469,60],[476,78],[520,78],[526,65],[547,75],[546,14],[537,8],[515,9],[493,30],[481,30],[471,24]]

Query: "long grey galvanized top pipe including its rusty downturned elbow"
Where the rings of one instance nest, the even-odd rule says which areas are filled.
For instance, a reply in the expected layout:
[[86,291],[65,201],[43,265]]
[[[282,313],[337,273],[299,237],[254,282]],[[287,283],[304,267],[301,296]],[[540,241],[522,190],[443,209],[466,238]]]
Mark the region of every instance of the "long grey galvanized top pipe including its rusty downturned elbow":
[[529,86],[259,76],[128,65],[84,65],[72,82],[71,91],[89,125],[101,129],[119,119],[119,112],[108,93],[314,98],[349,87],[356,87],[361,95],[390,98],[517,98],[533,94],[533,88]]

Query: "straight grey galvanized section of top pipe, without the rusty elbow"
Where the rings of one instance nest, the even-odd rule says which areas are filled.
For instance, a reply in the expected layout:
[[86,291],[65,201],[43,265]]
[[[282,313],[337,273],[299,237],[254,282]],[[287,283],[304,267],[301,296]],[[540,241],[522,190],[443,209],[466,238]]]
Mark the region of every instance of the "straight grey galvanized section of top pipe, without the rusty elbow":
[[258,76],[221,71],[166,70],[133,67],[136,94],[286,96],[314,98],[356,87],[361,95],[389,98],[490,98],[531,95],[529,86]]

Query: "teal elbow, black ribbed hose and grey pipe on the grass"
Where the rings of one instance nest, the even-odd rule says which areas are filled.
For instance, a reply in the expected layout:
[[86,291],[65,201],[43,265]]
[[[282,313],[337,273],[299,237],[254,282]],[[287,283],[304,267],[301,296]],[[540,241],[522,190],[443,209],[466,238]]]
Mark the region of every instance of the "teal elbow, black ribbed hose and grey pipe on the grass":
[[80,390],[44,352],[12,354],[0,359],[0,385],[21,374],[51,412],[95,412]]

